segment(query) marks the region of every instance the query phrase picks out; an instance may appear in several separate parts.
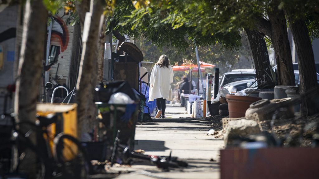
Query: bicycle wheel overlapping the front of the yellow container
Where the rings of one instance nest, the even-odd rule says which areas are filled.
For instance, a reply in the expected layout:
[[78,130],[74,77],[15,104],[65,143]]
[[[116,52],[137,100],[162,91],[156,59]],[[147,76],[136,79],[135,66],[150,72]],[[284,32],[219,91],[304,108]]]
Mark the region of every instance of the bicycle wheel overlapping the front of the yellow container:
[[86,150],[80,142],[70,135],[58,134],[54,138],[53,156],[62,164],[62,173],[65,178],[86,179],[91,171]]

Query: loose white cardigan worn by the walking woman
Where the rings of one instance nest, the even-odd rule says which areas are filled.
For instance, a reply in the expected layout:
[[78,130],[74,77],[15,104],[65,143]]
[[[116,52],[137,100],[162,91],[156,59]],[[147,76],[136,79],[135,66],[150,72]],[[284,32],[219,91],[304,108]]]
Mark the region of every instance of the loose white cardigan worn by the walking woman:
[[[164,98],[168,101],[172,101],[172,88],[171,83],[173,82],[173,69],[171,66],[159,67],[154,65],[150,79],[150,96],[149,101],[154,101],[157,98]],[[153,87],[152,87],[153,85]]]

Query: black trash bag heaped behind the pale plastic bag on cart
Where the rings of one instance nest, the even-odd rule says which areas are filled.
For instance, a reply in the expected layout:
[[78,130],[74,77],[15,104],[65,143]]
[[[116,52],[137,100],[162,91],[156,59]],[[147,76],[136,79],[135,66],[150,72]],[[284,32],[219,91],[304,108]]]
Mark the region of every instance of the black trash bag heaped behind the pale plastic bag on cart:
[[111,95],[117,92],[125,93],[133,101],[137,101],[137,96],[126,81],[101,82],[94,89],[95,102],[108,103]]

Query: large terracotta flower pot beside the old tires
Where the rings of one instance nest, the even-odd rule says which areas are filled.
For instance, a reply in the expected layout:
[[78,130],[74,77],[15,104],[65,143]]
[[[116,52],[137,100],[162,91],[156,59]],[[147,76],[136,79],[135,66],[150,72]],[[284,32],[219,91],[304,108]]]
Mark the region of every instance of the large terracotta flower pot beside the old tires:
[[230,118],[244,117],[249,105],[261,100],[260,97],[226,95]]

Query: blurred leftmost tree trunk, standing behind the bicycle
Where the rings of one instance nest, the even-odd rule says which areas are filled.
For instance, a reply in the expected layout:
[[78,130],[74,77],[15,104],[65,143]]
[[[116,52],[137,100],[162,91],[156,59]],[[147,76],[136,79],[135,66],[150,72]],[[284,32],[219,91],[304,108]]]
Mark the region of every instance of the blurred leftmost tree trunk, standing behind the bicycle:
[[48,11],[42,0],[26,1],[14,103],[17,121],[34,123],[36,120],[47,18]]

